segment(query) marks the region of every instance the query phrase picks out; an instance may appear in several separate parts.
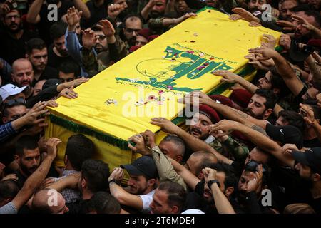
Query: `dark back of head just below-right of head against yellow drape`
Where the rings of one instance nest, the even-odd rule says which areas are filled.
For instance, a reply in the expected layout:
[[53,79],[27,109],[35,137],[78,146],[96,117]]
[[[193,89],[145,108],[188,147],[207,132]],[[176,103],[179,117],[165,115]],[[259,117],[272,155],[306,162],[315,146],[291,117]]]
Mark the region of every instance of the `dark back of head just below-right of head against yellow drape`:
[[88,159],[81,166],[81,179],[85,179],[91,192],[106,191],[110,175],[108,164],[101,160]]

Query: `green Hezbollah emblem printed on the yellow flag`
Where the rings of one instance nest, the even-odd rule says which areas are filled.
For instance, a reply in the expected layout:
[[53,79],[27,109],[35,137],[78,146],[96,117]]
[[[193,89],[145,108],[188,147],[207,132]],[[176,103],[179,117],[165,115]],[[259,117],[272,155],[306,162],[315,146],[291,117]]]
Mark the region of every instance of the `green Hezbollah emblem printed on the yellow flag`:
[[[205,73],[212,73],[215,70],[229,70],[232,68],[224,62],[215,62],[212,59],[207,59],[204,54],[195,54],[194,51],[180,51],[167,46],[165,53],[166,56],[163,58],[148,59],[137,64],[136,70],[138,73],[147,76],[149,81],[133,81],[133,79],[118,77],[116,77],[116,81],[126,81],[156,89],[168,89],[170,87],[171,90],[190,93],[194,90],[201,90],[201,88],[178,87],[175,81],[183,76],[186,76],[190,80],[195,80],[202,77]],[[186,59],[188,59],[188,61],[185,61]],[[153,63],[159,63],[160,61],[164,61],[166,66],[169,65],[168,68],[165,68],[165,71],[153,73],[152,70],[147,70],[147,68],[153,66]],[[170,72],[175,73],[173,76],[170,76]]]

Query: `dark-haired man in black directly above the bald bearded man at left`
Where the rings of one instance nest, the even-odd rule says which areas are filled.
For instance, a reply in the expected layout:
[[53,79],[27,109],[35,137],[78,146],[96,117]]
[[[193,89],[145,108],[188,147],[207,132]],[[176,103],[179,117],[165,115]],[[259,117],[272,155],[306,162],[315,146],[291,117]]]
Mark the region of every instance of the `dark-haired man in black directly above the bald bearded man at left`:
[[34,70],[34,84],[44,79],[58,78],[58,71],[47,65],[48,50],[41,38],[31,38],[26,43],[26,58]]

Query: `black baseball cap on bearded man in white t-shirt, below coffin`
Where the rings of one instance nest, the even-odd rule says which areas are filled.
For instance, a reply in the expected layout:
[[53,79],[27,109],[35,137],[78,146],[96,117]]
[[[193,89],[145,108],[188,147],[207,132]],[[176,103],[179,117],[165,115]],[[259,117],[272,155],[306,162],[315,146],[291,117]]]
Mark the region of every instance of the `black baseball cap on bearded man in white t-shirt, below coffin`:
[[131,164],[121,165],[121,167],[129,173],[129,175],[144,175],[150,178],[158,178],[156,164],[153,158],[142,156],[134,160]]

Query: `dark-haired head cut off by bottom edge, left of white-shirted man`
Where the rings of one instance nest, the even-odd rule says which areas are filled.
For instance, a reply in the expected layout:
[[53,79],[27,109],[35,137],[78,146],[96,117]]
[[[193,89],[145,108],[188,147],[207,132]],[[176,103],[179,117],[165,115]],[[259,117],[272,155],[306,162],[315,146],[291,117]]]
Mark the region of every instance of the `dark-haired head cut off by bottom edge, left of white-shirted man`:
[[96,192],[88,202],[88,210],[97,214],[119,214],[121,204],[108,192]]

